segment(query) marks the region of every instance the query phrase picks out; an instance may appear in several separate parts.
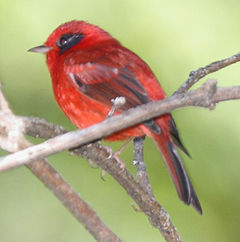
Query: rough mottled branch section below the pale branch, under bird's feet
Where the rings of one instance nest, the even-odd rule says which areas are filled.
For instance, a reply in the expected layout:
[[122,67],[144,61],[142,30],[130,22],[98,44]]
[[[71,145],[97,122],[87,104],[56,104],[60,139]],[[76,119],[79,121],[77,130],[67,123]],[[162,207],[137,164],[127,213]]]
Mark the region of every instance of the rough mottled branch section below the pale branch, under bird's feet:
[[149,193],[134,179],[133,175],[114,156],[109,154],[107,147],[94,143],[74,149],[74,153],[93,161],[107,171],[138,204],[140,210],[145,213],[151,224],[161,232],[166,241],[181,241],[168,213],[154,197],[149,196]]

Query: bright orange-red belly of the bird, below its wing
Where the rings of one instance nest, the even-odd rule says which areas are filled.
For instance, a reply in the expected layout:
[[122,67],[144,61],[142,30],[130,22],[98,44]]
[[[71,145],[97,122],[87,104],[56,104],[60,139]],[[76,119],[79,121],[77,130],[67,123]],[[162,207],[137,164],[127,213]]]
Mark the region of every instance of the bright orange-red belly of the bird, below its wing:
[[[55,92],[55,97],[65,115],[80,129],[102,122],[110,111],[109,107],[94,101],[72,88],[65,88],[64,90],[61,88]],[[140,127],[140,125],[136,125],[127,128],[105,139],[116,141],[143,136],[144,132]]]

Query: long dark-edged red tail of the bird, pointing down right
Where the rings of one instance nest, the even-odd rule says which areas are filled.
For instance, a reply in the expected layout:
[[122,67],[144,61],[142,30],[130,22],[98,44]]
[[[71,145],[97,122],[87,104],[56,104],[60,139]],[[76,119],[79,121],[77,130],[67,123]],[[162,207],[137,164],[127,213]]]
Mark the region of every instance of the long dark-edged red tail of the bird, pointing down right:
[[153,134],[153,136],[163,155],[179,198],[185,204],[191,204],[200,214],[202,214],[200,202],[187,175],[187,172],[184,169],[182,160],[175,149],[175,145],[170,140],[167,141],[166,137],[163,135]]

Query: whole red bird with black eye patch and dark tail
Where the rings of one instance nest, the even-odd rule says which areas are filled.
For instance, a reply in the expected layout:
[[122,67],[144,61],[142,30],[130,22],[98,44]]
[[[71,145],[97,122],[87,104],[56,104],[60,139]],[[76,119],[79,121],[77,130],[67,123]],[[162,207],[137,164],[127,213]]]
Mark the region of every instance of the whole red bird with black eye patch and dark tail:
[[[46,53],[56,101],[78,128],[106,119],[116,97],[129,108],[166,97],[149,66],[101,28],[84,21],[60,25],[44,45],[30,49]],[[179,198],[202,214],[201,205],[177,153],[184,148],[171,114],[117,132],[106,140],[147,135],[154,139]]]

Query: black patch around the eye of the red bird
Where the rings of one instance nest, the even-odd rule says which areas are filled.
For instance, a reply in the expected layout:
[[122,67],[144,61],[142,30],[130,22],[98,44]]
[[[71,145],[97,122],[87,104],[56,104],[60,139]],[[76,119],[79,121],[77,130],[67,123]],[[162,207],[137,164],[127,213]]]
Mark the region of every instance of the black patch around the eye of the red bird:
[[57,41],[57,46],[60,49],[60,54],[78,44],[83,39],[83,34],[63,34]]

